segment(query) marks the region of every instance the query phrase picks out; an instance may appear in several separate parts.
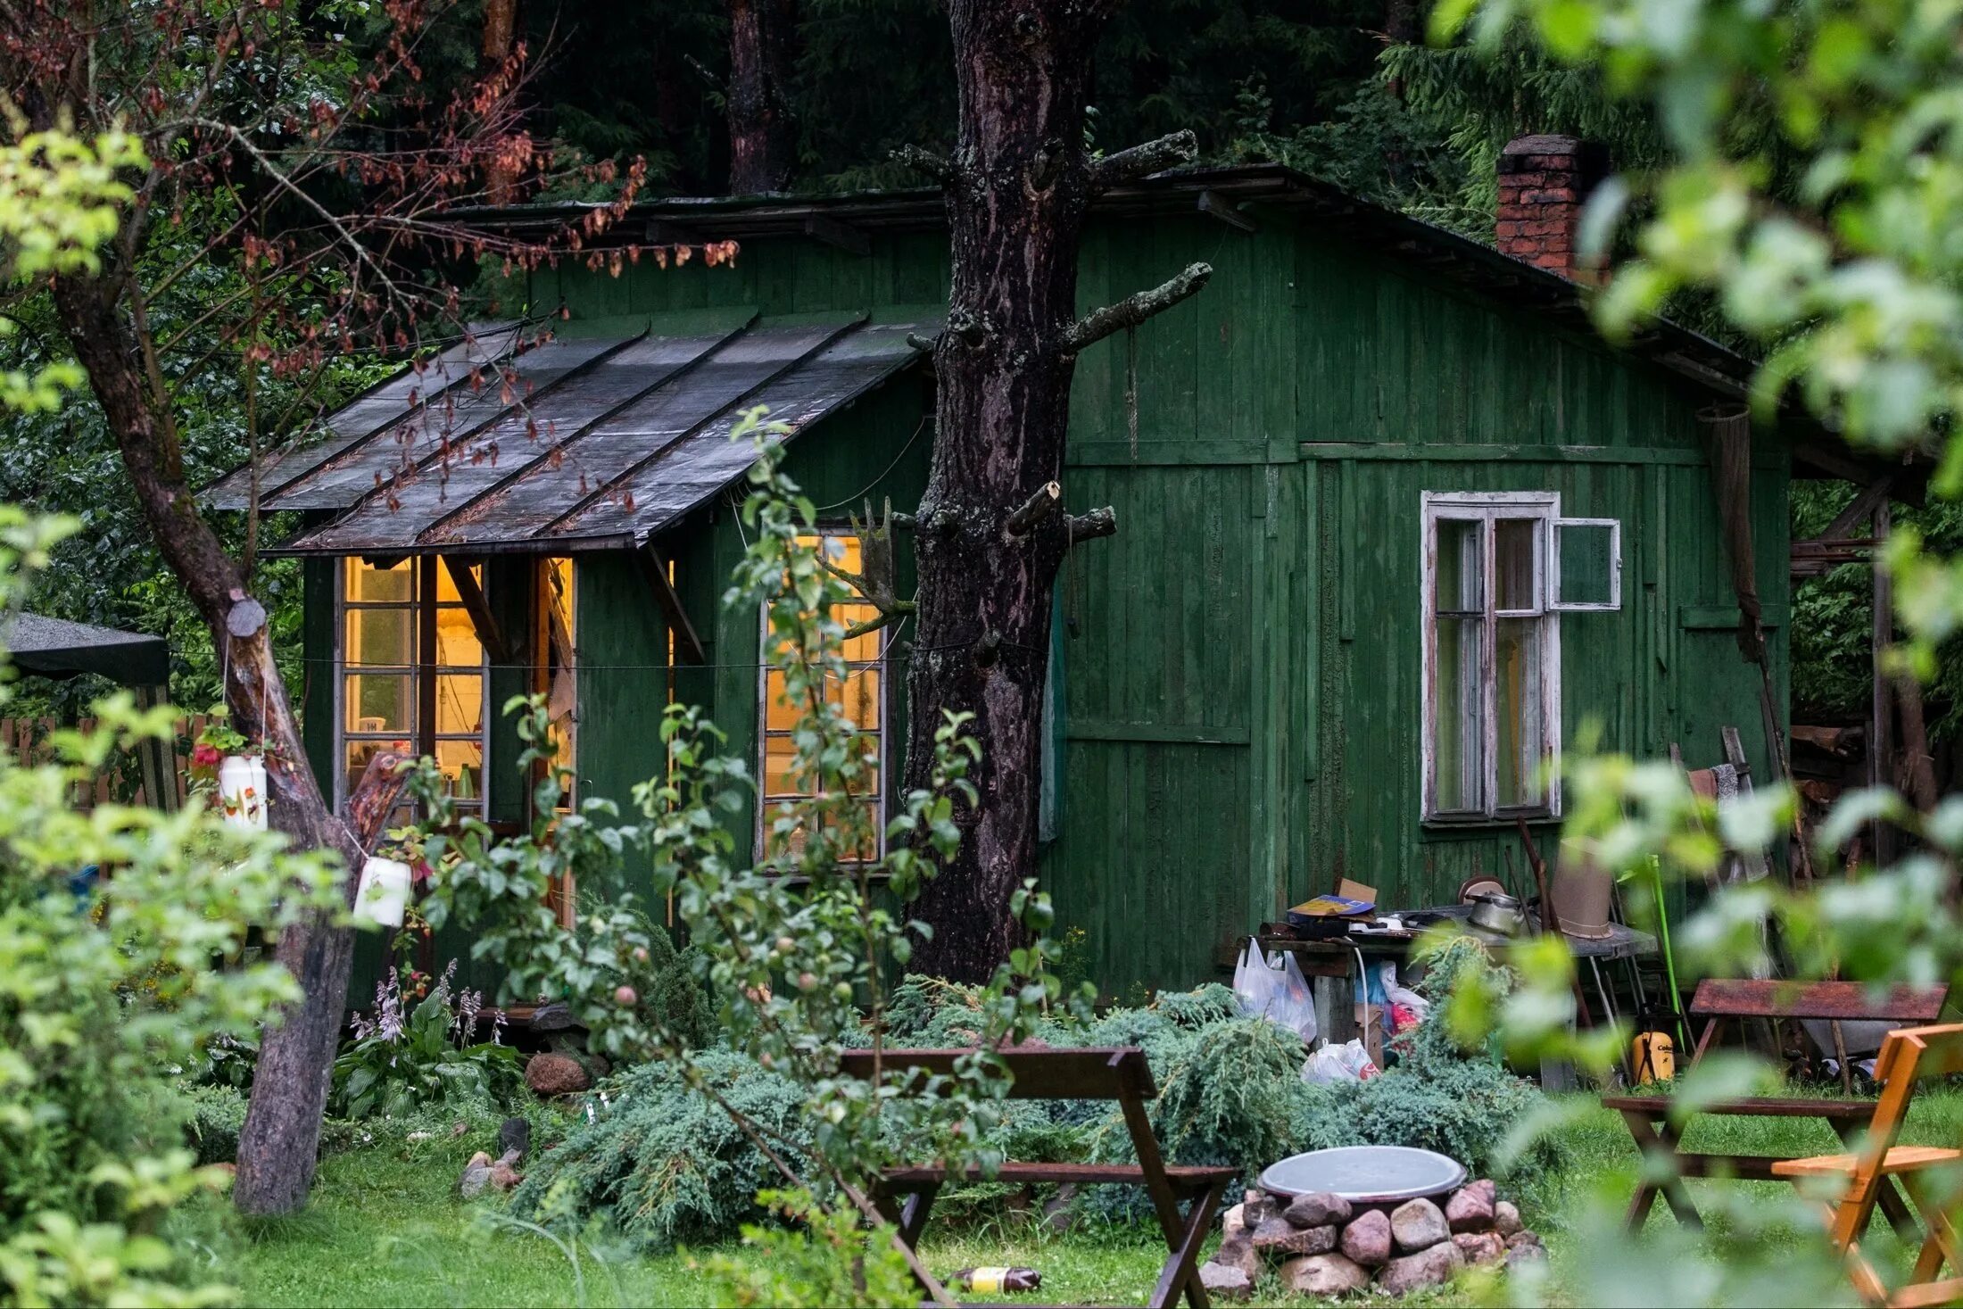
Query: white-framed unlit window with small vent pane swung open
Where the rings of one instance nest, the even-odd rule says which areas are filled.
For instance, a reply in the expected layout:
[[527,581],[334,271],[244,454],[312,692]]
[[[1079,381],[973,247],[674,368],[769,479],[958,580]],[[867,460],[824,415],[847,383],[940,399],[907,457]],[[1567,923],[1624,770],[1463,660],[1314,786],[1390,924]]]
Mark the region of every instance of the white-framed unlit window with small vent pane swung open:
[[1425,818],[1561,812],[1561,614],[1621,604],[1621,530],[1555,493],[1423,497]]

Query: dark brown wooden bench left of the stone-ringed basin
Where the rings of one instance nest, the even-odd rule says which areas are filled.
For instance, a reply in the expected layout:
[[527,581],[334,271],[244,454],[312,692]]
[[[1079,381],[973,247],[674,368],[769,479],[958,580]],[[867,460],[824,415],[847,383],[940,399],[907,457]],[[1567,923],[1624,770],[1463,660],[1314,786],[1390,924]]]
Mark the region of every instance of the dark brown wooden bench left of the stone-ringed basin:
[[[848,1050],[842,1070],[852,1077],[875,1079],[893,1073],[952,1075],[954,1062],[974,1050]],[[1170,1305],[1182,1293],[1186,1303],[1201,1309],[1207,1293],[1199,1285],[1199,1246],[1213,1223],[1213,1209],[1233,1181],[1235,1168],[1168,1166],[1152,1134],[1144,1103],[1158,1095],[1152,1068],[1137,1046],[1099,1050],[1003,1050],[1013,1083],[1009,1099],[1103,1099],[1117,1101],[1131,1132],[1137,1164],[1021,1164],[1007,1162],[995,1170],[997,1181],[1048,1185],[1141,1185],[1152,1199],[1158,1229],[1166,1236],[1166,1264],[1150,1305]],[[889,1168],[879,1178],[874,1203],[899,1229],[901,1240],[915,1246],[927,1227],[934,1197],[956,1170],[940,1164]],[[956,1179],[980,1179],[976,1168]],[[1186,1213],[1180,1205],[1186,1203]]]

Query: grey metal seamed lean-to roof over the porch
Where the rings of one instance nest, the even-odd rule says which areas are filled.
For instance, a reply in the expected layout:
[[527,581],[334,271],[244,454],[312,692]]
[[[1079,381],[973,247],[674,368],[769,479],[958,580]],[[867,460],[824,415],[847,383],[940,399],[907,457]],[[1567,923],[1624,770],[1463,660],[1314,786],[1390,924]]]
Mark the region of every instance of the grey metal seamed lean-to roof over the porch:
[[[907,334],[934,326],[732,310],[569,340],[477,328],[261,469],[263,510],[338,510],[269,553],[642,546],[744,475],[754,453],[730,432],[746,410],[795,434],[919,361]],[[216,508],[249,497],[249,469],[206,491]]]

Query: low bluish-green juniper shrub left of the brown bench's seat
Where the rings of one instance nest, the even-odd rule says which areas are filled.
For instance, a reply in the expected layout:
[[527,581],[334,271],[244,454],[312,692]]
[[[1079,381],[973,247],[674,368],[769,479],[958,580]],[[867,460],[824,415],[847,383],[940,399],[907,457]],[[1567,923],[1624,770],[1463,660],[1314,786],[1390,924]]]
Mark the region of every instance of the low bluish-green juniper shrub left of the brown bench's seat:
[[[695,1068],[707,1089],[756,1123],[768,1140],[787,1140],[785,1160],[805,1172],[809,1126],[803,1091],[730,1050],[703,1050]],[[540,1223],[589,1215],[612,1221],[640,1250],[715,1242],[758,1221],[756,1193],[781,1174],[732,1117],[693,1089],[669,1060],[612,1077],[587,1099],[591,1121],[557,1150],[536,1156],[512,1213]]]

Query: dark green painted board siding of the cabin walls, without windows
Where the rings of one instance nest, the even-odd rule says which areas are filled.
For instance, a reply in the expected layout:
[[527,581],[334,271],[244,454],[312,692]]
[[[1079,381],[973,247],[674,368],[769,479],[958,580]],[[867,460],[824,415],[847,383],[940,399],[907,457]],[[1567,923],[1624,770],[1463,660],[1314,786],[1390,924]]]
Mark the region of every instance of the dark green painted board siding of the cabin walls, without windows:
[[[1604,748],[1661,756],[1680,742],[1704,761],[1735,724],[1765,775],[1757,671],[1712,626],[1731,595],[1694,416],[1708,396],[1282,214],[1260,214],[1252,236],[1199,216],[1093,226],[1080,300],[1111,302],[1194,259],[1215,265],[1211,285],[1088,349],[1072,394],[1066,502],[1113,504],[1119,536],[1062,579],[1062,832],[1042,873],[1099,985],[1215,977],[1237,934],[1343,873],[1388,905],[1419,905],[1451,899],[1472,871],[1519,869],[1512,828],[1419,820],[1425,491],[1559,491],[1565,514],[1623,522],[1623,608],[1561,620],[1568,748],[1596,720]],[[620,279],[563,267],[522,294],[575,320],[713,306],[897,316],[944,302],[944,241],[874,234],[866,257],[750,241],[734,267],[642,263]],[[793,475],[834,504],[885,471],[875,493],[911,508],[927,438],[905,442],[921,412],[915,383],[895,383],[801,436]],[[1777,440],[1761,440],[1755,463],[1759,583],[1778,618]],[[677,695],[750,759],[756,618],[716,604],[742,550],[734,514],[718,502],[663,546],[711,652],[711,667],[677,671]],[[612,595],[605,614],[581,595],[583,634],[648,622],[626,591]],[[581,657],[593,657],[585,636]],[[1784,703],[1782,624],[1773,657]],[[897,730],[899,667],[889,687]],[[636,695],[660,693],[581,677],[589,722],[636,714]],[[634,736],[583,756],[591,785],[648,773],[656,756]],[[1541,832],[1551,850],[1553,828]]]

